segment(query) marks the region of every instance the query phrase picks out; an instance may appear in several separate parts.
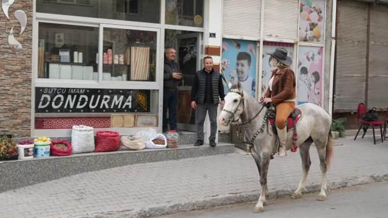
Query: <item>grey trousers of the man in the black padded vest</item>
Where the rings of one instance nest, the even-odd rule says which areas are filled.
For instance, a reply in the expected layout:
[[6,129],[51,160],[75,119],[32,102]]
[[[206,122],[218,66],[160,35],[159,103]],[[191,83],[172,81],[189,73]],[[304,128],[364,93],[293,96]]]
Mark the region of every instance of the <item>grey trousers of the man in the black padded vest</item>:
[[209,140],[216,139],[217,133],[217,108],[218,104],[197,104],[195,109],[195,123],[197,125],[197,140],[204,139],[203,123],[206,118],[206,112],[209,113],[210,119],[210,137]]

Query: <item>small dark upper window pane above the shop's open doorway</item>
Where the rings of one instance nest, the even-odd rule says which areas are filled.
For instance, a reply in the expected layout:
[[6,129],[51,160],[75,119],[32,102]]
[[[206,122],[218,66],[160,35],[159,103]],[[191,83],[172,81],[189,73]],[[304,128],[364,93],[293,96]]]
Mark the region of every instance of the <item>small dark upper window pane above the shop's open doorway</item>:
[[166,24],[203,27],[203,0],[166,0]]

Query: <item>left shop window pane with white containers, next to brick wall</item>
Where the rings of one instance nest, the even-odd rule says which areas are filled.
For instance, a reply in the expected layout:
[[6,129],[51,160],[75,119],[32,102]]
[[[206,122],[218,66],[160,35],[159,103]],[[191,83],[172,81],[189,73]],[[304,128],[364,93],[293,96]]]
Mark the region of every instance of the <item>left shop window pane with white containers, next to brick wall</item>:
[[38,78],[98,79],[98,28],[39,23],[38,34]]

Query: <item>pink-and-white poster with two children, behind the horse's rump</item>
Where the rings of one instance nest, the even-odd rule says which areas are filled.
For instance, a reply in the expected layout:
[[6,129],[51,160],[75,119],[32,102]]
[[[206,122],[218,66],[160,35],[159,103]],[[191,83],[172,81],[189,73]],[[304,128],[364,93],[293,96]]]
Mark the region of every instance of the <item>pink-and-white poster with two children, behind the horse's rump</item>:
[[297,97],[298,105],[310,102],[322,106],[323,48],[299,47]]

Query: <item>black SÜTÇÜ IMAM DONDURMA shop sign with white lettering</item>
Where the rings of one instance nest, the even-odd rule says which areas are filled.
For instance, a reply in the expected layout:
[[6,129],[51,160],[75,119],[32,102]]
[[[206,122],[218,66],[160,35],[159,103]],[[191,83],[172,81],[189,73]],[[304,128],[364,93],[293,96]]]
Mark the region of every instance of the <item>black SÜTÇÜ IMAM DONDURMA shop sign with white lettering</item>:
[[35,87],[35,112],[150,112],[150,90]]

